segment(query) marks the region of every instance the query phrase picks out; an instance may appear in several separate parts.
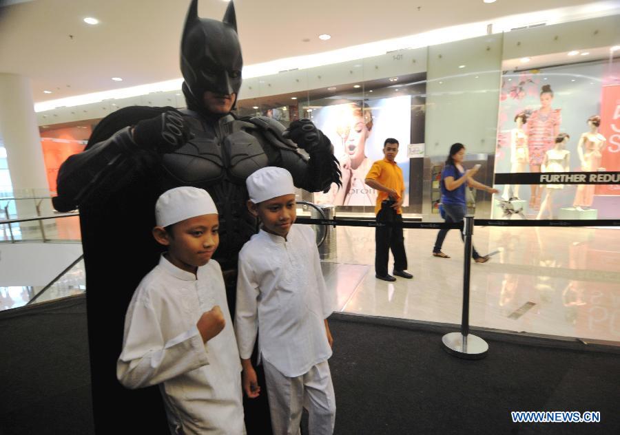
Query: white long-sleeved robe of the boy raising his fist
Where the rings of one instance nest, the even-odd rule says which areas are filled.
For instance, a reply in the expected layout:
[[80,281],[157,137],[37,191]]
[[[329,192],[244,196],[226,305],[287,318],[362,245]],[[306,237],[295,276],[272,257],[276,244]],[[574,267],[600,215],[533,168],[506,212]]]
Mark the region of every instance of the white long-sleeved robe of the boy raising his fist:
[[[158,384],[171,431],[245,434],[241,365],[220,265],[211,259],[197,277],[162,256],[143,278],[127,308],[116,376],[132,389]],[[203,343],[196,323],[216,305],[226,325]]]

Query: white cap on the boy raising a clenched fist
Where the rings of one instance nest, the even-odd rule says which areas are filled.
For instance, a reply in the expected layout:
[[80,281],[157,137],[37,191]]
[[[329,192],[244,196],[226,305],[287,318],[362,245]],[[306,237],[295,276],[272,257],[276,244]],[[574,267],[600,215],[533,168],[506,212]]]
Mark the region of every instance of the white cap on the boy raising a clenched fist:
[[168,226],[201,215],[218,214],[215,202],[205,189],[175,187],[165,191],[155,204],[157,226]]

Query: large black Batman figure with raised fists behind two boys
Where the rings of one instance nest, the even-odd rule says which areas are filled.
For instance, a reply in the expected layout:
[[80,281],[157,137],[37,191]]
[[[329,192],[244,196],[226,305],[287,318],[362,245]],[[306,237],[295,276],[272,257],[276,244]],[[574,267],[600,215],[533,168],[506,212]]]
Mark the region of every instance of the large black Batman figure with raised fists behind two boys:
[[[162,251],[151,235],[158,196],[194,186],[216,202],[220,245],[214,258],[225,271],[234,312],[237,255],[257,227],[246,207],[247,176],[266,166],[284,167],[296,187],[307,191],[324,191],[340,180],[329,139],[309,120],[285,129],[271,118],[229,112],[242,70],[232,1],[220,22],[200,19],[198,1],[192,0],[180,51],[187,109],[119,109],[101,120],[85,151],[70,156],[59,170],[54,208],[80,209],[97,434],[166,432],[159,392],[125,390],[115,372],[125,311]],[[262,412],[268,418],[268,409]]]

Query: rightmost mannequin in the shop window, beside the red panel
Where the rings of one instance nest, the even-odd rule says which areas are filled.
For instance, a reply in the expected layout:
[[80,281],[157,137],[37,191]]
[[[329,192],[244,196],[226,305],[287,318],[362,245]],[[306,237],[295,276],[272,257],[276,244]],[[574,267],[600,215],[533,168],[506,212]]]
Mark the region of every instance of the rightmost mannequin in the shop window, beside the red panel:
[[[577,153],[581,161],[581,171],[599,171],[601,168],[601,151],[605,148],[606,138],[599,133],[601,117],[598,115],[588,118],[590,131],[581,135],[577,145]],[[579,184],[575,200],[572,205],[579,211],[589,208],[594,200],[595,185]]]

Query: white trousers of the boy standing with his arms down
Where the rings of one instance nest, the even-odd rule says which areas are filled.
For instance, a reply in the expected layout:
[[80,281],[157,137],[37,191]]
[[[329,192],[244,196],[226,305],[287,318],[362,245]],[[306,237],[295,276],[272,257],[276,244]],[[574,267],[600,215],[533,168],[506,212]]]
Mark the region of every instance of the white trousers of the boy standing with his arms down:
[[273,435],[298,435],[302,408],[309,414],[310,435],[331,435],[335,423],[335,396],[327,361],[289,378],[262,359],[267,382]]

